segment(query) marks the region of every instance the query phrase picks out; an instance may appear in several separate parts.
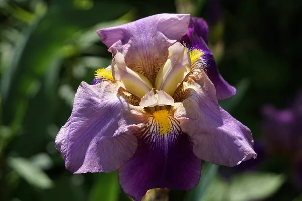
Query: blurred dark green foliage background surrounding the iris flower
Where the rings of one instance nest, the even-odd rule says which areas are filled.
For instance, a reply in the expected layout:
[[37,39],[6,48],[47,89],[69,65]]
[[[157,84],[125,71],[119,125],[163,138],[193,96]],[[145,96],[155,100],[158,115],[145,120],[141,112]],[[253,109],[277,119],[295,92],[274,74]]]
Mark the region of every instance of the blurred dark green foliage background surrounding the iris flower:
[[219,71],[238,90],[220,104],[252,130],[258,153],[234,168],[204,162],[199,185],[170,200],[302,200],[302,144],[288,151],[263,129],[264,105],[302,102],[299,0],[1,0],[0,200],[130,200],[117,172],[67,171],[54,138],[80,82],[111,63],[95,31],[157,13],[207,20]]

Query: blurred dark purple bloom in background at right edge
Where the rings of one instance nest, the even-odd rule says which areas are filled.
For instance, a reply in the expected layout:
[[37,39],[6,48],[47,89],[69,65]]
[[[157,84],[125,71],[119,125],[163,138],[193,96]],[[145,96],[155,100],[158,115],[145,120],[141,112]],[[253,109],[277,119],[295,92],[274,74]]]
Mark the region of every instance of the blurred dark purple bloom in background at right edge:
[[263,107],[263,132],[272,152],[286,156],[292,165],[296,187],[302,191],[302,91],[290,107]]

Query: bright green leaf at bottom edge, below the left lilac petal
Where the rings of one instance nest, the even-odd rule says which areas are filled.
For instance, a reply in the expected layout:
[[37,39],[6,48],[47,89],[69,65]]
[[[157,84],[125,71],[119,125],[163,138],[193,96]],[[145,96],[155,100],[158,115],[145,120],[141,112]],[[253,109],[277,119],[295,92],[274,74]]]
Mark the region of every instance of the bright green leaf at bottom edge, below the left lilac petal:
[[89,193],[89,201],[118,200],[119,183],[117,172],[101,173]]

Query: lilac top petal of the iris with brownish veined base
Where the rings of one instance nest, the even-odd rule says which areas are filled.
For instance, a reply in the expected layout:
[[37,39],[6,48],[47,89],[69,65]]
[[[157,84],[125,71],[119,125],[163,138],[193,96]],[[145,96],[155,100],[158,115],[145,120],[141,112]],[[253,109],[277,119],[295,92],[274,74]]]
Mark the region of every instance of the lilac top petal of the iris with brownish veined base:
[[97,33],[109,52],[123,53],[127,66],[153,83],[168,47],[186,34],[189,20],[188,14],[157,14]]

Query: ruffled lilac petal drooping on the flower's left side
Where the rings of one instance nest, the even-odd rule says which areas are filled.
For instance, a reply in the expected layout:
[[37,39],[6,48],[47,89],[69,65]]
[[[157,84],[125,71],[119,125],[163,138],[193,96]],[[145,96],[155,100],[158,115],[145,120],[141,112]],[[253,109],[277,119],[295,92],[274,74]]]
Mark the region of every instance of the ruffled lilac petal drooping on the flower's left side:
[[66,168],[73,173],[110,172],[124,164],[137,147],[128,127],[144,121],[137,108],[117,94],[111,81],[82,82],[71,117],[56,137]]

